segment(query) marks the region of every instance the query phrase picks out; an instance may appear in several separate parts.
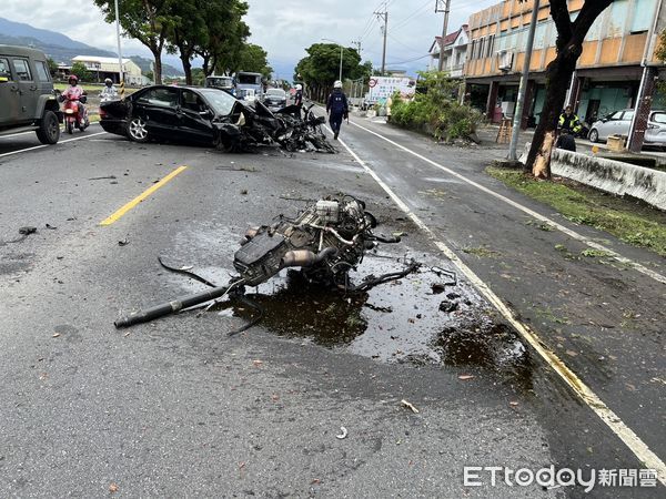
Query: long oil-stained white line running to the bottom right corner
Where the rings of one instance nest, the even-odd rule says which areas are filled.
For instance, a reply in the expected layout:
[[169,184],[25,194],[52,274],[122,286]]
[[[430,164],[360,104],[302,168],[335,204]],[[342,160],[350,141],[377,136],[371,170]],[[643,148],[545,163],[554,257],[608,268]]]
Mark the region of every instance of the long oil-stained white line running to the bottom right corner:
[[[330,130],[329,130],[330,131]],[[522,323],[516,314],[502,302],[502,299],[491,289],[491,287],[478,277],[472,268],[451,249],[446,244],[436,238],[435,233],[423,223],[421,218],[395,194],[380,176],[367,166],[354,151],[350,149],[344,141],[339,142],[350,152],[350,154],[363,166],[363,169],[375,180],[377,184],[391,196],[393,202],[421,228],[437,248],[470,279],[470,282],[493,304],[493,306],[504,316],[504,318],[516,328],[527,343],[542,356],[542,358],[564,379],[564,381],[581,397],[581,399],[604,421],[617,437],[625,442],[629,450],[647,468],[657,472],[659,481],[666,486],[666,465],[654,454],[647,445],[627,426],[606,404],[571,370],[566,364],[554,352],[546,348],[537,334],[526,324]]]

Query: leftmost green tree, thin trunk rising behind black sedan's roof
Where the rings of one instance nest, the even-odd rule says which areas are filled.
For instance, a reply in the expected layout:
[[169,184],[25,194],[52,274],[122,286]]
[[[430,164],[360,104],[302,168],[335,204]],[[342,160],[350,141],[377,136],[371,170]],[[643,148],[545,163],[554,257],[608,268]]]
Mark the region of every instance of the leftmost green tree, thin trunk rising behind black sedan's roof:
[[[180,0],[123,0],[120,26],[123,34],[134,38],[151,51],[154,58],[154,82],[162,83],[162,49],[173,24],[172,6]],[[94,0],[107,22],[115,22],[114,0]]]

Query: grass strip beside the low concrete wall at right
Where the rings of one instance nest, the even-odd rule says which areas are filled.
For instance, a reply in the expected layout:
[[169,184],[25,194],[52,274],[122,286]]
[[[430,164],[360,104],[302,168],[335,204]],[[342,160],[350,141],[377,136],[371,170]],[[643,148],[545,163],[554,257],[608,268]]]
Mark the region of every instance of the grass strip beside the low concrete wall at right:
[[666,256],[666,213],[645,203],[606,194],[565,179],[537,181],[521,170],[488,166],[506,185],[545,203],[577,224],[606,231],[633,246]]

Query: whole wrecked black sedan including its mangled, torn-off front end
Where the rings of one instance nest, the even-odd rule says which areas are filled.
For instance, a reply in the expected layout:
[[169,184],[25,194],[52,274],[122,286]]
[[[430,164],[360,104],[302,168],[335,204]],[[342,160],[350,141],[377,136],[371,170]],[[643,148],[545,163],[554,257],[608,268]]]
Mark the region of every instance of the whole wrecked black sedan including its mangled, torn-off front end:
[[287,151],[335,152],[321,131],[324,118],[295,105],[271,112],[220,89],[153,85],[100,105],[104,131],[135,142],[191,141],[226,152],[278,144]]

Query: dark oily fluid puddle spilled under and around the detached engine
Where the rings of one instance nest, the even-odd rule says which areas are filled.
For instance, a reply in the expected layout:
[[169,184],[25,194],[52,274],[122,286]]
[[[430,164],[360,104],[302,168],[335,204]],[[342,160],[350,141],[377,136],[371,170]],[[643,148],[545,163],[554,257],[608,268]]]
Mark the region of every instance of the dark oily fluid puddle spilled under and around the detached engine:
[[[215,254],[206,262],[195,262],[194,271],[213,282],[225,283],[233,274],[231,259],[241,232],[229,227],[201,228],[176,235],[172,258],[192,264],[192,254],[201,254],[202,247],[214,247]],[[404,244],[400,249],[408,252]],[[403,262],[412,257],[424,264],[441,264],[438,258],[423,253],[408,252],[400,258],[395,254],[369,253],[359,272],[350,277],[360,282],[369,274],[401,271]],[[281,336],[344,348],[381,361],[465,369],[487,375],[494,381],[531,389],[534,365],[517,333],[496,320],[472,287],[442,286],[447,277],[428,268],[424,265],[416,274],[362,294],[331,292],[289,269],[256,288],[248,288],[246,297],[264,310],[260,327]],[[186,286],[188,292],[201,289],[198,283],[165,274]],[[223,302],[210,313],[216,313],[220,320],[228,317],[250,320],[255,310]]]

